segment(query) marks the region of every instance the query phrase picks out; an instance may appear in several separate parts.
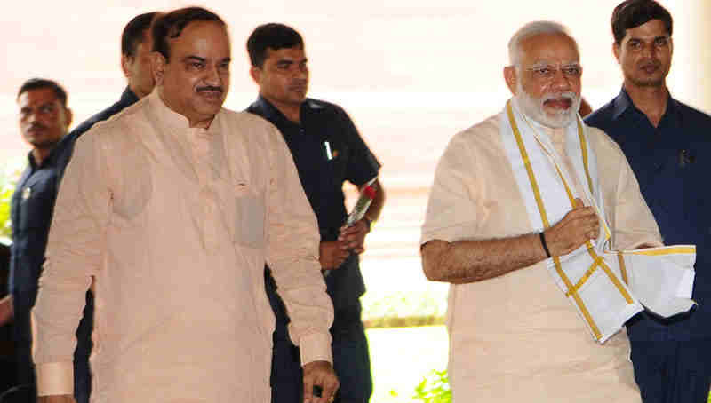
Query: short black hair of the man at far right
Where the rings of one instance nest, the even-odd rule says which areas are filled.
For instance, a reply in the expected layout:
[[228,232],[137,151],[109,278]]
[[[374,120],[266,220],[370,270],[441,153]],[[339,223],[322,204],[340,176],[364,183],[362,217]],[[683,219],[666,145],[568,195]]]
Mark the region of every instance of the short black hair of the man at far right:
[[637,28],[650,20],[661,20],[672,36],[672,15],[654,0],[626,0],[612,12],[612,36],[621,44],[627,29]]

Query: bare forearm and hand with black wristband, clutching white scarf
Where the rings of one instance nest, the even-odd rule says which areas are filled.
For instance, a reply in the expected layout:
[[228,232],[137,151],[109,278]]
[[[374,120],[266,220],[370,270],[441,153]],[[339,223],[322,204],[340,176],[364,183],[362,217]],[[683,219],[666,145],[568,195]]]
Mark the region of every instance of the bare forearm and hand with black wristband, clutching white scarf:
[[[552,257],[578,249],[597,238],[595,209],[576,201],[557,224],[543,232]],[[485,241],[428,241],[420,248],[422,268],[430,281],[454,284],[483,281],[539,263],[547,258],[538,233]]]

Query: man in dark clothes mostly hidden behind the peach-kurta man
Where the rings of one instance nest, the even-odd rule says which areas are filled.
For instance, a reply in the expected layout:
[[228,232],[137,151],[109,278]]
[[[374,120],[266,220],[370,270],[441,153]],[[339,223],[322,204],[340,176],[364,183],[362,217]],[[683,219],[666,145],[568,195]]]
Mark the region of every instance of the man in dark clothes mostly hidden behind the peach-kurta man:
[[[76,126],[61,141],[60,146],[58,146],[61,150],[59,156],[59,178],[64,175],[64,170],[67,169],[77,138],[91,129],[97,122],[107,120],[153,91],[156,81],[153,78],[152,71],[151,50],[153,49],[153,40],[150,35],[150,26],[155,18],[156,12],[140,14],[124,27],[124,32],[121,35],[121,68],[124,71],[128,85],[124,93],[121,94],[121,99],[114,105]],[[93,312],[93,294],[90,290],[86,292],[84,317],[79,322],[79,328],[76,329],[78,343],[74,353],[74,394],[77,403],[88,403],[89,395],[92,391],[89,356],[92,352]]]

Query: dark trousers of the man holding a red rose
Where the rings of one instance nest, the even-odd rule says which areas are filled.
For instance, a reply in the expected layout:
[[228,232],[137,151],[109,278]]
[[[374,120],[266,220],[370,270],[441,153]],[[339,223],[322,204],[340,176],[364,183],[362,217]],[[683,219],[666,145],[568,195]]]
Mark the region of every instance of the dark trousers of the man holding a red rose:
[[[289,317],[284,303],[276,294],[276,285],[268,269],[265,269],[265,284],[269,303],[276,315],[276,329],[272,336],[272,403],[301,403],[303,372],[299,347],[289,339]],[[333,367],[340,381],[334,403],[367,403],[372,393],[371,361],[360,303],[335,312],[331,336]]]

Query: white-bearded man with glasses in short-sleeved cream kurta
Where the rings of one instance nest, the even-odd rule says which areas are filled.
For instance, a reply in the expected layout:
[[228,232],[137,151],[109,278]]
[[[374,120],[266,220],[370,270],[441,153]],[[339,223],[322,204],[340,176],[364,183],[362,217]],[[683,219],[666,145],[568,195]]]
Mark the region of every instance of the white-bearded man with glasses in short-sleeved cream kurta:
[[[509,51],[512,66],[505,77],[515,94],[512,107],[532,130],[550,139],[562,168],[575,172],[564,130],[576,124],[579,106],[577,45],[562,26],[537,22],[512,38]],[[547,253],[563,256],[598,237],[593,201],[583,197],[542,235],[534,233],[523,198],[531,190],[516,183],[501,116],[451,139],[435,173],[422,229],[427,277],[452,283],[448,328],[454,400],[637,402],[627,337],[617,333],[605,344],[596,343],[547,271]],[[600,130],[584,130],[613,246],[660,245],[657,225],[619,147]],[[573,175],[570,185],[585,194],[585,178]]]

